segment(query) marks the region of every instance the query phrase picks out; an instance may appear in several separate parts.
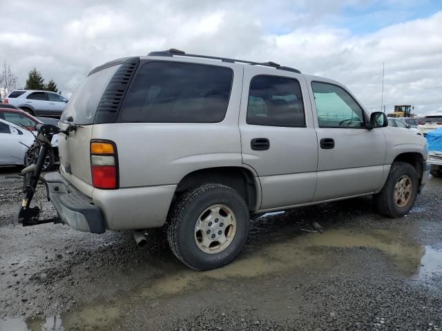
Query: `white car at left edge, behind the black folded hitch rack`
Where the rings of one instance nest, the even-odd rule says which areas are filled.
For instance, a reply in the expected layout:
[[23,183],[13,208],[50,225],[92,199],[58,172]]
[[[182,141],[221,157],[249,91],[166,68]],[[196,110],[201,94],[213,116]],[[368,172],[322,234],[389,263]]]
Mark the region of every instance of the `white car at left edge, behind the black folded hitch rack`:
[[0,165],[24,165],[34,139],[26,129],[0,119]]

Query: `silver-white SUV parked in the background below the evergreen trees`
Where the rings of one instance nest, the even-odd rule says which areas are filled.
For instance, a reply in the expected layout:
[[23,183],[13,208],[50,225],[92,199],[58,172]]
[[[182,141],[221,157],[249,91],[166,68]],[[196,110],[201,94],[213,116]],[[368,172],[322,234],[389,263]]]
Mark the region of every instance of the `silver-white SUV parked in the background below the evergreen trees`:
[[68,100],[55,92],[14,90],[3,102],[21,108],[31,115],[60,117]]

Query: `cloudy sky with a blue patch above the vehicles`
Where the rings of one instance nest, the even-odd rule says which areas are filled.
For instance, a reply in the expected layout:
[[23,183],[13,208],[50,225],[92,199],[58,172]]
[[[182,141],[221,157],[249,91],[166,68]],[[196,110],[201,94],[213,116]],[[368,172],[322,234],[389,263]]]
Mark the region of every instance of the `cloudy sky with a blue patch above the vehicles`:
[[[152,50],[275,61],[344,83],[369,110],[442,112],[442,0],[0,0],[0,61],[70,96],[91,68]],[[8,10],[8,7],[11,7]]]

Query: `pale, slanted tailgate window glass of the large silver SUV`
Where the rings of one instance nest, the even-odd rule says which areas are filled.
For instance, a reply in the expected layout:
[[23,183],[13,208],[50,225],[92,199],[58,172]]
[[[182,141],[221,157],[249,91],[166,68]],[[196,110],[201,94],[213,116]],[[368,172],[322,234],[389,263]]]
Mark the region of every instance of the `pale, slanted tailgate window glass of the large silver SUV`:
[[69,99],[60,121],[66,123],[66,119],[72,117],[75,124],[92,124],[103,92],[119,67],[120,65],[105,68],[87,77]]

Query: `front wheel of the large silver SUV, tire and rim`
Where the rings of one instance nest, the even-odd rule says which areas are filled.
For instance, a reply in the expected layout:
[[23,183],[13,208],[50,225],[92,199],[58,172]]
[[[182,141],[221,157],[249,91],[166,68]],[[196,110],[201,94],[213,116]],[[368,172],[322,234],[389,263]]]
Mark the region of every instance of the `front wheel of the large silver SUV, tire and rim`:
[[[401,188],[401,183],[399,183],[399,181],[401,181],[406,187],[408,186],[405,183],[410,183],[410,191],[408,192],[405,189],[405,191],[401,192],[403,197],[396,200],[396,184],[398,184],[398,191],[400,191]],[[378,210],[379,214],[387,217],[403,217],[410,212],[410,209],[412,209],[414,205],[414,201],[416,201],[418,185],[419,180],[416,170],[410,165],[410,163],[394,162],[392,168],[390,168],[390,174],[388,174],[384,187],[381,192],[374,196],[376,210]],[[399,197],[401,194],[398,194]]]

